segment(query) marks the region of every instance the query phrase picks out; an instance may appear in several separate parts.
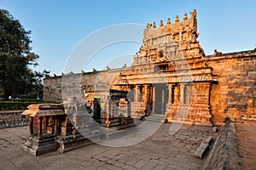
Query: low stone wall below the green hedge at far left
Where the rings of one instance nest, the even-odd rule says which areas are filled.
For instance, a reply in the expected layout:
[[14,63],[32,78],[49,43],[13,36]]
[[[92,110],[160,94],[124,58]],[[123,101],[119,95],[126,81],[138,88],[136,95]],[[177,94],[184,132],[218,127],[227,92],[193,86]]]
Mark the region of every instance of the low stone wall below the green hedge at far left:
[[27,116],[22,116],[23,110],[0,111],[0,129],[8,127],[22,127],[29,124]]

